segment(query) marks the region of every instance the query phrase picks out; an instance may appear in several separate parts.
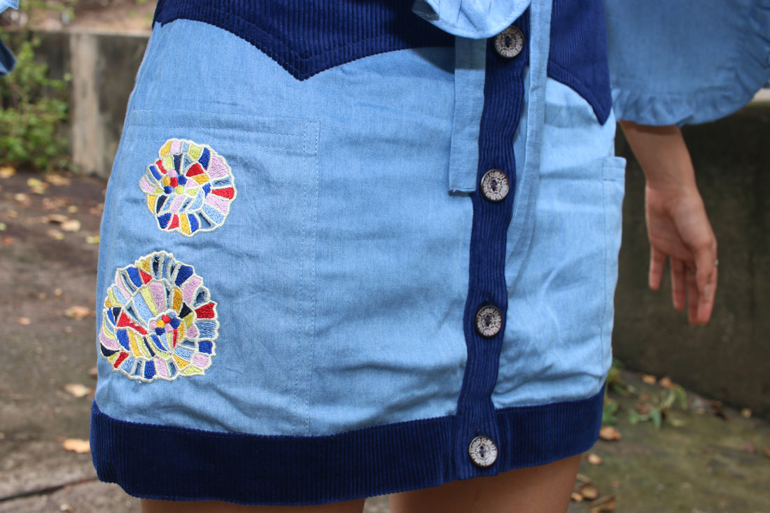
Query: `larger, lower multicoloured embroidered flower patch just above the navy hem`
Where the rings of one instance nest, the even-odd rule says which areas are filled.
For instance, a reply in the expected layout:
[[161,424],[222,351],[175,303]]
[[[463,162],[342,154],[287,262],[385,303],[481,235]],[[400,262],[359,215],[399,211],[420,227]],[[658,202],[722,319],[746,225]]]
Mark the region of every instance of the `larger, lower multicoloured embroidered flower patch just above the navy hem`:
[[216,303],[203,278],[159,251],[115,271],[99,344],[115,371],[139,381],[205,374],[219,336]]

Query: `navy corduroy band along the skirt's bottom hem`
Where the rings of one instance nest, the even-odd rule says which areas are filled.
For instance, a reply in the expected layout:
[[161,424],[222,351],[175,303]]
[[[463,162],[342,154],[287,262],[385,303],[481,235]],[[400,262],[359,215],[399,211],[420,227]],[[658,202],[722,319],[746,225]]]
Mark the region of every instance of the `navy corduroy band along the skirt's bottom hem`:
[[[587,451],[601,428],[603,401],[601,390],[581,401],[496,411],[501,451],[490,471]],[[330,436],[262,436],[120,421],[94,402],[91,451],[99,479],[136,497],[325,504],[460,478],[455,422],[453,415]]]

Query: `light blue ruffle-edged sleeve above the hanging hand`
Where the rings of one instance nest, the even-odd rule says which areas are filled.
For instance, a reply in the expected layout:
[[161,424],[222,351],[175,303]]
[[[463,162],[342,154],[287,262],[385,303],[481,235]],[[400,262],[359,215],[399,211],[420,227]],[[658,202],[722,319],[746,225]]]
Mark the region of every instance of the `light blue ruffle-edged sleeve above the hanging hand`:
[[607,0],[615,115],[685,125],[731,114],[770,79],[770,0]]

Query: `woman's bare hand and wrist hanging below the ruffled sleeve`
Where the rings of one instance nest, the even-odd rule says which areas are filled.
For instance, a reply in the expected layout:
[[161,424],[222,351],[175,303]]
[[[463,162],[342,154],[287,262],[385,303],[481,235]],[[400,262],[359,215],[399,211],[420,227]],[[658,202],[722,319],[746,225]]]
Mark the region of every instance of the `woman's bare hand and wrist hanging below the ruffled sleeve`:
[[675,309],[687,307],[690,324],[706,324],[717,288],[717,241],[695,185],[685,139],[677,126],[621,122],[621,127],[647,178],[650,288],[660,287],[668,257]]

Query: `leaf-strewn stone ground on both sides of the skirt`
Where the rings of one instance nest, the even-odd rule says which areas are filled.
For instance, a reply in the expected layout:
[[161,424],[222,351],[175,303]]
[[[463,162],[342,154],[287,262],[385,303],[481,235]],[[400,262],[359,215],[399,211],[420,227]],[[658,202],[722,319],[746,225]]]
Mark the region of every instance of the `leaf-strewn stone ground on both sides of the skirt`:
[[[89,436],[105,184],[9,174],[0,170],[0,513],[139,511],[136,499],[95,480],[89,454],[63,448]],[[631,425],[635,406],[644,412],[669,392],[631,372],[620,380],[635,390],[611,394],[622,439],[594,446],[602,463],[584,461],[576,487],[590,483],[598,499],[574,502],[571,513],[612,511],[611,502],[623,513],[770,513],[768,421],[689,393],[688,409],[673,405],[660,431],[651,421]],[[367,513],[384,511],[386,498],[367,504]]]

